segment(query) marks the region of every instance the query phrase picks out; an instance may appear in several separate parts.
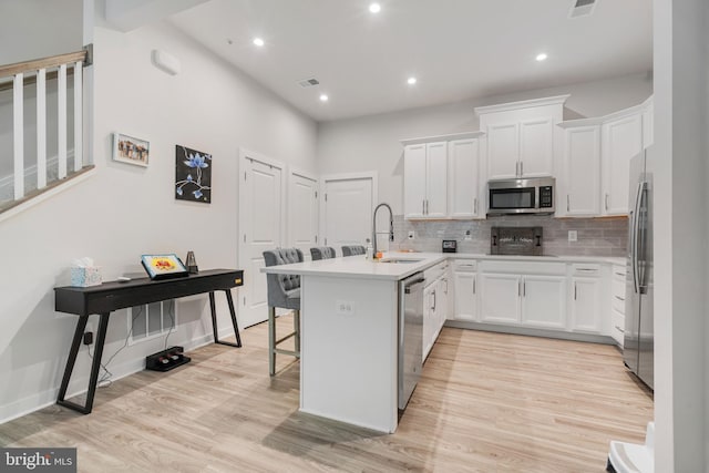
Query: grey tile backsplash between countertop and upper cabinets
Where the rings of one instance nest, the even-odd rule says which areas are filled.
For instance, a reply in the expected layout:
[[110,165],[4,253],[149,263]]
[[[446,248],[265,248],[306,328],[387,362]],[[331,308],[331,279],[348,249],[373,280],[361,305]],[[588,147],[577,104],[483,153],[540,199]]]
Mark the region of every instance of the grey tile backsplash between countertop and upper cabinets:
[[[499,216],[485,220],[404,220],[394,216],[394,243],[391,249],[441,251],[441,240],[458,240],[459,253],[490,253],[491,227],[544,228],[544,254],[556,256],[626,255],[628,219],[617,218],[554,218],[551,216]],[[568,232],[576,230],[577,240],[568,241]],[[414,238],[409,239],[409,232]],[[470,239],[466,238],[470,232]]]

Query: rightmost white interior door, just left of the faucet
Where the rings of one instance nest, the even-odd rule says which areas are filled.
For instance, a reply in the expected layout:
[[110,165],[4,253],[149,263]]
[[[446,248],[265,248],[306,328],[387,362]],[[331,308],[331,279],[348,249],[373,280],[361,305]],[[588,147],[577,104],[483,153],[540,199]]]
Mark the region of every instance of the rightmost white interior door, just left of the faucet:
[[364,245],[367,238],[371,238],[374,177],[322,181],[322,245],[331,246],[342,255],[342,245]]

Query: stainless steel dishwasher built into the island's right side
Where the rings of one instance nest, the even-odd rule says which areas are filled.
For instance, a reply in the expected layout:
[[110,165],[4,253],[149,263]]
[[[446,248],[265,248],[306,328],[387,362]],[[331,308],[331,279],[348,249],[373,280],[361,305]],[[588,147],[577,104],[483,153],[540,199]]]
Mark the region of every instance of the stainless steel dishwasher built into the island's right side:
[[399,409],[409,403],[422,369],[423,273],[399,281]]

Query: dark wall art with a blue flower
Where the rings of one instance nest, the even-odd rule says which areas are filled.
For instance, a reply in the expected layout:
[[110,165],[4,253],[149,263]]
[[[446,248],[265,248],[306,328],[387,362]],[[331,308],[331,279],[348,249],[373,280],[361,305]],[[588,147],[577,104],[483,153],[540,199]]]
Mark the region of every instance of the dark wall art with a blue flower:
[[175,146],[175,198],[212,202],[212,155]]

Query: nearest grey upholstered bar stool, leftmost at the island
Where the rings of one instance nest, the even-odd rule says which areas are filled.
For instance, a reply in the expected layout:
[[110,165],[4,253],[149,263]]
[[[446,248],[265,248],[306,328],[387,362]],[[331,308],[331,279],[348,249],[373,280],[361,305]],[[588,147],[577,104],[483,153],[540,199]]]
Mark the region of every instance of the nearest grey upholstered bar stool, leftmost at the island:
[[[266,266],[302,263],[302,251],[298,248],[279,248],[264,251]],[[300,358],[300,276],[266,275],[268,285],[268,371],[276,374],[276,353]],[[276,340],[276,308],[292,310],[294,331]],[[278,345],[294,338],[295,350],[278,348]]]

